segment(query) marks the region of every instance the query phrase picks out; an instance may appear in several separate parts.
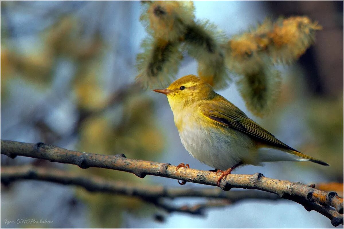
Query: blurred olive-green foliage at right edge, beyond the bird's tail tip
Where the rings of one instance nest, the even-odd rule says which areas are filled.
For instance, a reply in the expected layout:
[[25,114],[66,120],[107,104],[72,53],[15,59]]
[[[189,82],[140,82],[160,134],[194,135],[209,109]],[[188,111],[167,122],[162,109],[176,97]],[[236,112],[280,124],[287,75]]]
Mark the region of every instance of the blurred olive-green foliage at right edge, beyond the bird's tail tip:
[[307,124],[312,140],[304,146],[312,155],[323,158],[330,169],[322,172],[330,175],[332,181],[343,181],[343,95],[336,100],[312,99],[308,106]]

